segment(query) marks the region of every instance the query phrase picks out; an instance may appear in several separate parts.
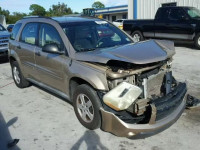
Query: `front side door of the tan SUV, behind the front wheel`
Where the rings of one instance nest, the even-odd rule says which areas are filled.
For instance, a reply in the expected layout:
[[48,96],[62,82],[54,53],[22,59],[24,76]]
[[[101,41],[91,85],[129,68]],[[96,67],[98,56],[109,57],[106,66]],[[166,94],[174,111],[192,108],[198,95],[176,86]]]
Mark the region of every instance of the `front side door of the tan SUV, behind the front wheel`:
[[50,24],[41,23],[39,46],[35,52],[39,80],[47,86],[64,92],[66,90],[64,87],[64,62],[66,56],[43,52],[42,47],[51,43],[57,44],[59,50],[64,51],[63,41],[56,28]]

